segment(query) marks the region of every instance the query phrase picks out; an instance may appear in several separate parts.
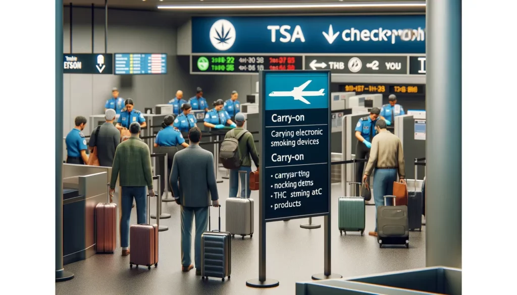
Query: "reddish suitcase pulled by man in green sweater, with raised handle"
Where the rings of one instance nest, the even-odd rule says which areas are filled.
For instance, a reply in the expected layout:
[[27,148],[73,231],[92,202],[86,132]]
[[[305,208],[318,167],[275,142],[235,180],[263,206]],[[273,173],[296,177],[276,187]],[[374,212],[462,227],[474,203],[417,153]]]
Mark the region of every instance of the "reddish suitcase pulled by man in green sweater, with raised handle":
[[[158,179],[158,191],[160,191],[160,176],[154,176],[153,179]],[[156,199],[157,213],[159,216],[158,206],[160,198]],[[150,198],[147,195],[147,223],[136,224],[129,227],[129,245],[131,251],[129,252],[129,267],[133,265],[138,267],[146,266],[151,269],[152,265],[158,267],[158,228],[159,224],[150,225]],[[157,219],[159,223],[159,218]]]

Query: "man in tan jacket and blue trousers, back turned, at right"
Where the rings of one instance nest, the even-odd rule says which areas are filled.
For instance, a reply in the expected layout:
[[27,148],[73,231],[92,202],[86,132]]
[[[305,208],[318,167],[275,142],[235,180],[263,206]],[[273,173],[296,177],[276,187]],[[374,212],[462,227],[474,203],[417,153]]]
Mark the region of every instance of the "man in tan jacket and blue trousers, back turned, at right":
[[[375,122],[375,131],[378,134],[373,137],[370,159],[362,181],[366,182],[375,168],[373,198],[376,212],[379,206],[384,205],[384,196],[393,194],[393,182],[397,181],[397,176],[402,183],[406,183],[406,175],[400,138],[386,130],[386,121],[383,119]],[[370,236],[377,236],[377,220],[375,220],[375,231],[370,231]]]

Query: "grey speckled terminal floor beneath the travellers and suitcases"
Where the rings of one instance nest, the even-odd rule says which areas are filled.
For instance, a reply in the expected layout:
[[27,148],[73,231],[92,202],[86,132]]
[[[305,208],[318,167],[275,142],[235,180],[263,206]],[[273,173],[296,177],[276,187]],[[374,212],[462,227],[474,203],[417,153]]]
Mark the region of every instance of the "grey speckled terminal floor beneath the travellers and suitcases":
[[[228,180],[218,184],[220,197],[228,193]],[[379,249],[376,239],[359,233],[340,236],[337,226],[337,201],[340,185],[332,185],[332,272],[345,277],[396,271],[425,266],[425,226],[422,232],[410,232],[409,249]],[[89,259],[72,263],[65,269],[75,274],[71,281],[56,283],[56,294],[294,294],[295,282],[308,281],[311,275],[323,272],[323,218],[313,223],[322,224],[319,229],[302,229],[304,220],[273,222],[267,224],[267,277],[280,281],[271,289],[254,289],[246,281],[258,277],[258,193],[255,199],[255,235],[252,239],[235,238],[232,241],[232,275],[230,281],[211,279],[202,281],[194,271],[181,272],[179,251],[179,206],[162,203],[163,212],[172,214],[171,219],[160,220],[169,226],[160,232],[158,268],[129,268],[129,257],[115,254],[98,254]],[[223,203],[224,205],[224,203]],[[151,212],[156,203],[151,201]],[[221,215],[224,216],[224,206]],[[367,206],[367,229],[374,228],[374,206]],[[136,223],[133,209],[131,223]],[[212,226],[217,226],[217,213],[212,211]],[[224,217],[222,218],[224,229]],[[213,227],[212,227],[213,228]],[[193,256],[193,250],[192,250]],[[193,261],[192,261],[193,262]]]

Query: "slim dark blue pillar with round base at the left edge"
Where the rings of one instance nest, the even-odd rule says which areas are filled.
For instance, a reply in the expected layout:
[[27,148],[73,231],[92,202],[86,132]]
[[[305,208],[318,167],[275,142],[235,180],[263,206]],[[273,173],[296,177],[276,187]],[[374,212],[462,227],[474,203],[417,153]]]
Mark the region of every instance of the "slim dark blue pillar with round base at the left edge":
[[[63,268],[63,0],[56,0],[56,103],[55,103],[55,200],[56,200],[56,282],[73,278]],[[70,45],[71,50],[71,45]]]

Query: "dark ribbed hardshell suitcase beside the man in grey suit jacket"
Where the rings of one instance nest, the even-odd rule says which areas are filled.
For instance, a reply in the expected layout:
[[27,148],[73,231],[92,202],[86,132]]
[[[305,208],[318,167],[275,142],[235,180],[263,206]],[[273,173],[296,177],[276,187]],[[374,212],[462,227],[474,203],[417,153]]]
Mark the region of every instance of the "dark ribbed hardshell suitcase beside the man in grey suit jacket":
[[208,231],[201,234],[201,279],[224,278],[232,273],[232,238],[230,232],[221,231],[221,207],[219,207],[219,230],[210,230],[208,208]]

